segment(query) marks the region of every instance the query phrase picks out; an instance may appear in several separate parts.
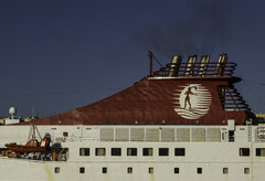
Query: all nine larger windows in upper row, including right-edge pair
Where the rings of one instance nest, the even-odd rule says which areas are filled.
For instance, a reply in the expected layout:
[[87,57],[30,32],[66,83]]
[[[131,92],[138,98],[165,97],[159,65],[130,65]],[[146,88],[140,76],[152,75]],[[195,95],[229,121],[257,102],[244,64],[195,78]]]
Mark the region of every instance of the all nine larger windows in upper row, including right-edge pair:
[[[138,151],[137,148],[127,148],[127,156],[137,156]],[[89,156],[91,149],[89,148],[80,148],[80,156]],[[110,149],[112,156],[121,156],[121,148],[112,148]],[[152,156],[153,149],[152,148],[142,148],[142,156]],[[169,156],[169,148],[159,148],[158,149],[159,156]],[[250,148],[240,148],[240,156],[241,157],[250,157],[251,150]],[[95,148],[95,156],[106,156],[106,148]],[[183,157],[186,156],[184,148],[174,148],[174,156]],[[256,157],[265,157],[265,148],[256,148]]]

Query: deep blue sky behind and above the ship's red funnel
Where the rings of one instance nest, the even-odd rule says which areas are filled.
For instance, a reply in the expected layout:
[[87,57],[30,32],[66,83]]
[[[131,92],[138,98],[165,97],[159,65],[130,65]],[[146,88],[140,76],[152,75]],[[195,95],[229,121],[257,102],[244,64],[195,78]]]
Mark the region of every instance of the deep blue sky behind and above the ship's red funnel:
[[1,0],[0,115],[40,117],[117,93],[148,74],[147,51],[226,53],[236,85],[265,113],[264,1]]

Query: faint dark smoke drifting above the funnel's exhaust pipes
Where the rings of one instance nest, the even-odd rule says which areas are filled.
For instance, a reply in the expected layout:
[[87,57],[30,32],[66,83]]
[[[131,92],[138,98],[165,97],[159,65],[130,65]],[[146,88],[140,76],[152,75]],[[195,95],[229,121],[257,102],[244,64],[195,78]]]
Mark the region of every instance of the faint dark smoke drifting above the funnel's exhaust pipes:
[[148,24],[135,33],[134,42],[167,56],[212,54],[230,45],[240,31],[237,2],[189,0],[184,17],[176,11],[166,25]]

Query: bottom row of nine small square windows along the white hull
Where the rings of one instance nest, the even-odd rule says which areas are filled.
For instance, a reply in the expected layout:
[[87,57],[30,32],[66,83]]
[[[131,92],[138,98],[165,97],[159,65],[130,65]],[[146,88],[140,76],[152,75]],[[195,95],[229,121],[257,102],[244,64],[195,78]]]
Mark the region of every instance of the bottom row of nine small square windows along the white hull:
[[[60,173],[60,168],[55,167],[54,172]],[[80,173],[85,173],[85,168],[84,167],[80,168]],[[107,173],[107,168],[106,167],[102,168],[102,173]],[[131,167],[127,168],[127,173],[132,173],[132,168]],[[148,168],[148,173],[153,173],[153,168],[152,167]],[[179,174],[180,169],[179,168],[173,168],[173,173]],[[197,168],[197,173],[202,174],[202,168]],[[229,174],[229,168],[223,168],[223,174]],[[250,174],[250,168],[244,168],[244,174]]]

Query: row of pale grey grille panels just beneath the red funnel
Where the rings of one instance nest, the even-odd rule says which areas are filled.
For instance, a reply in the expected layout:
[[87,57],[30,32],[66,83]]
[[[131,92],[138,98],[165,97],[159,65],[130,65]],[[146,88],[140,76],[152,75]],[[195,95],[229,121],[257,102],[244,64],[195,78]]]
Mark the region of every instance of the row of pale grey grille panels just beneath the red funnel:
[[100,128],[102,141],[147,141],[147,142],[218,142],[221,141],[221,128],[169,128],[169,127],[117,127]]

